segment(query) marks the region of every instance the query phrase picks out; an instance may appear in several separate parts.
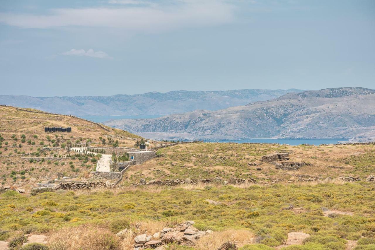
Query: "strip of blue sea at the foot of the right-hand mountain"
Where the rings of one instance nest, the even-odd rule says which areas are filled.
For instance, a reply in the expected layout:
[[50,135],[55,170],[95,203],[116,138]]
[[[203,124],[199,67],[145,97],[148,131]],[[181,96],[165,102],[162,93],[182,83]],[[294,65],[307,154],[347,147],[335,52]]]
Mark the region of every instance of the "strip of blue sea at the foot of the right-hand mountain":
[[339,142],[346,141],[346,139],[263,139],[263,138],[248,138],[242,140],[234,141],[217,141],[217,142],[237,142],[237,143],[279,143],[279,144],[289,144],[289,145],[300,145],[300,144],[310,144],[310,145],[320,145],[320,144],[336,144]]

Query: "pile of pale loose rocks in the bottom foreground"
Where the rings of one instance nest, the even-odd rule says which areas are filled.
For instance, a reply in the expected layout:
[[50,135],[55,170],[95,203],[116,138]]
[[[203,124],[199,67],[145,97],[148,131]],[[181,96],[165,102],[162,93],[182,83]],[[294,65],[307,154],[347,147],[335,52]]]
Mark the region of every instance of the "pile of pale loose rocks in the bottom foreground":
[[193,224],[192,220],[188,220],[174,228],[164,228],[153,236],[147,234],[138,235],[134,238],[134,250],[156,248],[168,243],[192,246],[198,238],[212,232],[210,230],[201,231],[195,228]]

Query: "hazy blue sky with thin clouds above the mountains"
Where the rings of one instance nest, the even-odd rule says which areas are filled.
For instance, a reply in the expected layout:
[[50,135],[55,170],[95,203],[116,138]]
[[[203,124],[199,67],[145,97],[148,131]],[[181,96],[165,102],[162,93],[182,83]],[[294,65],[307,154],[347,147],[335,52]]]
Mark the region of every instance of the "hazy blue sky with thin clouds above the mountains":
[[375,88],[374,0],[1,0],[0,94]]

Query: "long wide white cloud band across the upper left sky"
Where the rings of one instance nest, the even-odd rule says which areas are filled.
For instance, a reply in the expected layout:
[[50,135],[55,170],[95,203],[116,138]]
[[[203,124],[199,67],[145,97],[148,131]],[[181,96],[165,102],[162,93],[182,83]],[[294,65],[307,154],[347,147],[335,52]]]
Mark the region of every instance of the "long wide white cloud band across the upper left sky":
[[0,13],[0,22],[21,28],[81,26],[157,32],[230,22],[233,10],[234,6],[223,0],[174,0],[172,4],[163,5],[52,9],[48,15]]

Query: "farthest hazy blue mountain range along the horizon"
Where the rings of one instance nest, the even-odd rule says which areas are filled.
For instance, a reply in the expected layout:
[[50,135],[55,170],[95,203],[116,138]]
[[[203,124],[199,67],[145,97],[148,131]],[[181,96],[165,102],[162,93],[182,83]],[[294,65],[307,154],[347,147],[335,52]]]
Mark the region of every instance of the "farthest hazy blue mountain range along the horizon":
[[304,90],[170,91],[115,96],[32,97],[0,95],[1,105],[66,115],[168,115],[219,110]]

